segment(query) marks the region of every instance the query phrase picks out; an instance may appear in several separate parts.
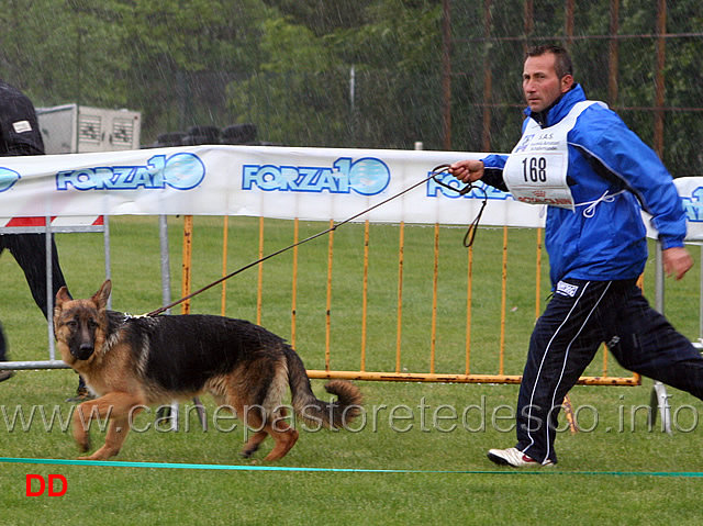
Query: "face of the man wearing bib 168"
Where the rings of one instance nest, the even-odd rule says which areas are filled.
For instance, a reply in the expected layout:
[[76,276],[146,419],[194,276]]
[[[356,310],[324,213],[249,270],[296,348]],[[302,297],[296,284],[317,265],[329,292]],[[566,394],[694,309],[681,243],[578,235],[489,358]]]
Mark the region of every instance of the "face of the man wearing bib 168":
[[557,76],[555,70],[556,57],[553,53],[545,53],[538,57],[527,57],[523,69],[523,92],[527,105],[534,112],[546,110],[561,93],[566,93],[573,85],[573,77]]

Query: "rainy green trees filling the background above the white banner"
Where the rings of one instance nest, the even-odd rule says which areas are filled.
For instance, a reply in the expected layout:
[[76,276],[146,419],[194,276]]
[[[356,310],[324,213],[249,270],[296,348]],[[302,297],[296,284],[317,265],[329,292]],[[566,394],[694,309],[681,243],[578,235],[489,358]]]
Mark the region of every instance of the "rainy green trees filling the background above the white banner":
[[[448,36],[453,148],[507,152],[523,117],[524,45],[548,41],[568,44],[589,97],[652,145],[658,4],[621,0],[609,100],[611,3],[574,2],[569,42],[563,0],[532,2],[531,27],[524,0],[454,0],[448,35],[440,0],[0,0],[0,75],[36,105],[142,111],[145,144],[253,122],[268,143],[439,149]],[[663,159],[674,175],[703,172],[699,3],[667,2]]]

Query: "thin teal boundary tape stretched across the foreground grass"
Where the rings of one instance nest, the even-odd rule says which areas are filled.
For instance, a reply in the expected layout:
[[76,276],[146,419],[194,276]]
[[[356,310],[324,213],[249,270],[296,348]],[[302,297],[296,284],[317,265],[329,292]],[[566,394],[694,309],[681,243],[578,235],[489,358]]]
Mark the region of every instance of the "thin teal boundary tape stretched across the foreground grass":
[[217,471],[283,471],[283,472],[327,472],[327,473],[434,473],[434,474],[561,474],[561,475],[601,475],[601,477],[666,477],[666,478],[703,478],[701,471],[555,471],[539,470],[415,470],[415,469],[370,469],[370,468],[311,468],[287,466],[237,466],[210,463],[170,463],[170,462],[130,462],[114,460],[78,460],[48,458],[13,458],[0,457],[4,463],[30,463],[54,466],[92,466],[107,468],[141,469],[199,469]]

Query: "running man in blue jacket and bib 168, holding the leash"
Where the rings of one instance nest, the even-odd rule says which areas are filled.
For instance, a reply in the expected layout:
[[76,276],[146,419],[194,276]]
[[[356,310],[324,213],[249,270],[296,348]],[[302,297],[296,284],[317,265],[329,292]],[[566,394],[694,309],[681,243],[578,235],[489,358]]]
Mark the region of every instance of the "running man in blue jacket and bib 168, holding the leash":
[[557,462],[559,406],[602,343],[623,367],[703,399],[703,358],[636,286],[647,260],[640,208],[659,233],[665,271],[681,279],[693,265],[671,176],[614,112],[587,100],[566,49],[531,49],[523,91],[527,119],[513,152],[450,168],[465,182],[481,179],[547,205],[554,295],[529,342],[517,444],[488,452],[517,468]]

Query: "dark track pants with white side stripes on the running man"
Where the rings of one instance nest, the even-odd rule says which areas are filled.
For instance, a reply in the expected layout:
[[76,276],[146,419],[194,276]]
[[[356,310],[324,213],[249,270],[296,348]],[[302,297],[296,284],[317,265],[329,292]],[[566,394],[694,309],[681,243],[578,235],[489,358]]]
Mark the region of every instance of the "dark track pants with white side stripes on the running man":
[[635,280],[565,281],[532,334],[517,399],[516,447],[539,462],[557,461],[560,404],[602,343],[624,368],[703,399],[703,357]]

